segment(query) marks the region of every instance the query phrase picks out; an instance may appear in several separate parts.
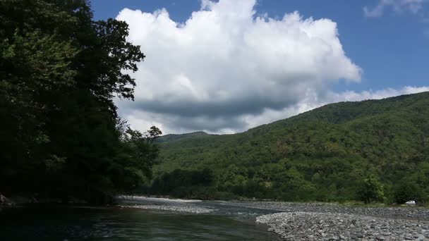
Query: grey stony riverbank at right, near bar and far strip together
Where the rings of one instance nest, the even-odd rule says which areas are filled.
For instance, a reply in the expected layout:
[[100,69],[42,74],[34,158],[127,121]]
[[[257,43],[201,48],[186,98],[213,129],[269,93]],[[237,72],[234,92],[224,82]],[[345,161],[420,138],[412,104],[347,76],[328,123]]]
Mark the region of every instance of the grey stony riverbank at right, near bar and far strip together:
[[366,207],[323,203],[229,202],[281,211],[258,223],[284,240],[429,240],[429,209]]

